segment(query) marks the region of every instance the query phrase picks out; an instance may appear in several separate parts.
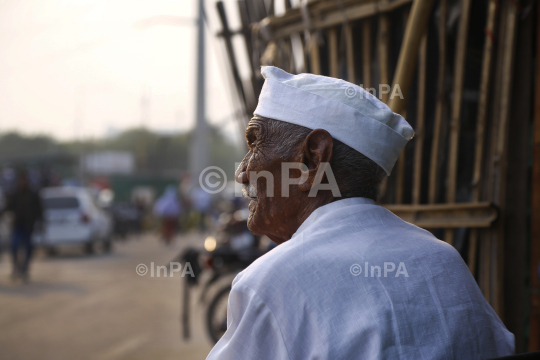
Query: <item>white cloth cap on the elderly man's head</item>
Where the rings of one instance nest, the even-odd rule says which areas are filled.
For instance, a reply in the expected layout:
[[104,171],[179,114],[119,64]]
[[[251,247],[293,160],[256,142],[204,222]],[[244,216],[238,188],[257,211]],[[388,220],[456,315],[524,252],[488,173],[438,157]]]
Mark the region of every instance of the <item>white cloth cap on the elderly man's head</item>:
[[266,79],[254,114],[324,129],[367,156],[388,175],[414,131],[403,117],[359,86],[313,74],[263,66]]

